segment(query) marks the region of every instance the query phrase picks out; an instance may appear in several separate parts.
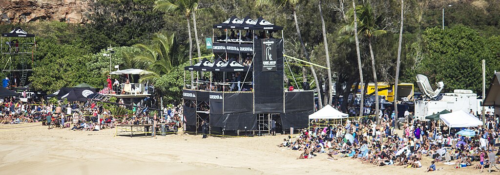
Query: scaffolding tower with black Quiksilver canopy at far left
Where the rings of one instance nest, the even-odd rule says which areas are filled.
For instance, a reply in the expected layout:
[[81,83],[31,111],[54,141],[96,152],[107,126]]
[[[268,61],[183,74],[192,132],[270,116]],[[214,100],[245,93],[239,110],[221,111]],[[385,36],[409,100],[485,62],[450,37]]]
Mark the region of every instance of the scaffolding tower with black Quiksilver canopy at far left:
[[1,75],[9,78],[9,87],[23,87],[33,67],[36,39],[17,27],[0,38]]

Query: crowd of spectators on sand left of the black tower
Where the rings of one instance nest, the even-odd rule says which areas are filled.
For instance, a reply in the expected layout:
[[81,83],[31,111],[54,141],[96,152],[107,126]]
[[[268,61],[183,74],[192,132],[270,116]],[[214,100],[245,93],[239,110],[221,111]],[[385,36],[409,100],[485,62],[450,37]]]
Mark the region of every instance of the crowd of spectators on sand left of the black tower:
[[[122,101],[120,101],[122,102]],[[131,113],[123,116],[113,115],[108,109],[92,102],[57,103],[21,102],[15,98],[0,100],[0,124],[20,124],[41,122],[52,128],[70,128],[70,130],[98,131],[113,128],[116,124],[152,124],[170,123],[180,127],[183,123],[181,105],[164,107],[163,116],[149,110],[132,107]]]

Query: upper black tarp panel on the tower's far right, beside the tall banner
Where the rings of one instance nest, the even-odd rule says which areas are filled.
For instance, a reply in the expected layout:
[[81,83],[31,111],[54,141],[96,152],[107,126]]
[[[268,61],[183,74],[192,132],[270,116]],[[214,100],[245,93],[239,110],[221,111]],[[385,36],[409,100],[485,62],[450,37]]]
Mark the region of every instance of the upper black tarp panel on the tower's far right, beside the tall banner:
[[284,112],[305,112],[314,110],[313,91],[284,92]]

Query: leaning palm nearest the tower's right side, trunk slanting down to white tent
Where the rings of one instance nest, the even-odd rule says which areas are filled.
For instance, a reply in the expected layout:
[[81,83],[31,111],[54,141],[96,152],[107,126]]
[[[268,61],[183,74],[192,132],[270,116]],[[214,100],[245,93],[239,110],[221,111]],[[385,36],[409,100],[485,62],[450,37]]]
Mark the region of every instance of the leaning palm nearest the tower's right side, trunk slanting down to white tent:
[[[302,52],[304,53],[304,56],[307,59],[307,61],[311,62],[311,59],[309,58],[309,54],[307,53],[307,49],[305,49],[305,44],[304,44],[304,41],[302,40],[302,35],[300,35],[300,28],[298,27],[297,14],[296,14],[296,10],[295,10],[297,5],[299,5],[300,3],[307,3],[307,1],[308,0],[255,0],[255,5],[257,5],[257,6],[277,5],[279,7],[284,7],[286,9],[291,10],[291,12],[293,13],[293,20],[295,22],[295,29],[297,30],[298,41],[300,42],[300,45],[302,46]],[[323,104],[321,102],[321,92],[319,89],[320,88],[319,83],[317,81],[316,71],[314,71],[313,66],[310,66],[309,68],[311,69],[312,77],[314,77],[314,83],[316,85],[317,96],[318,96],[318,100],[317,100],[318,101],[318,108],[320,109],[323,107]]]

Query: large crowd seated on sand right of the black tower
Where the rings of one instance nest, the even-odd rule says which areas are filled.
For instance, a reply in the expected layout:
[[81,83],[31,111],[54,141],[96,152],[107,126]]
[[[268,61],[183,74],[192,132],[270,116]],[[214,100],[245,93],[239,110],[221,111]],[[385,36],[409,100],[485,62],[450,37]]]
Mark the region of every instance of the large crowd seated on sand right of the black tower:
[[[392,115],[394,116],[394,115]],[[436,171],[436,164],[453,165],[456,169],[471,166],[483,172],[497,164],[498,115],[486,114],[485,127],[448,128],[441,121],[420,121],[411,116],[401,123],[397,134],[394,118],[378,118],[378,121],[361,118],[344,124],[317,123],[303,129],[293,137],[283,139],[279,147],[300,151],[298,159],[311,159],[326,154],[327,159],[356,159],[374,166],[425,167]],[[456,134],[467,129],[473,136]],[[422,159],[430,159],[430,165],[422,165]]]

